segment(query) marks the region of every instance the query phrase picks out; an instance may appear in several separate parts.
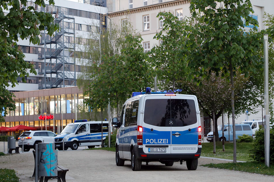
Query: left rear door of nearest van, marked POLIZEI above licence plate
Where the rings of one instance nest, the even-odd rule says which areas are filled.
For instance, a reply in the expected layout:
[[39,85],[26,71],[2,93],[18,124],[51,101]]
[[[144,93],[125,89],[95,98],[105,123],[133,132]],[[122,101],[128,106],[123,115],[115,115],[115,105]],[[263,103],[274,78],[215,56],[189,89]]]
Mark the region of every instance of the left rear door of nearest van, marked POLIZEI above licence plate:
[[171,153],[170,96],[145,96],[143,106],[143,151]]

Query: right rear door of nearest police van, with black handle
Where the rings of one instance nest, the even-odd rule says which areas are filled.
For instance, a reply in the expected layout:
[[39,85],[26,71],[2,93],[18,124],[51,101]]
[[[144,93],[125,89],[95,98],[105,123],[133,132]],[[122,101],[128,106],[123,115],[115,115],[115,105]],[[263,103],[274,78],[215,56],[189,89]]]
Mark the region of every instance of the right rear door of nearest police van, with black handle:
[[198,114],[193,96],[171,96],[171,154],[198,151]]

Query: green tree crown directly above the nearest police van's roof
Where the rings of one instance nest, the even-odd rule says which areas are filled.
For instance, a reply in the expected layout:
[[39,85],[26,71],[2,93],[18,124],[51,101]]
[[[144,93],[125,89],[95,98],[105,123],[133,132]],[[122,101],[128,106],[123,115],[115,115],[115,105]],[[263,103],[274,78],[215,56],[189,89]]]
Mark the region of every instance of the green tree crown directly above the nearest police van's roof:
[[[163,90],[175,92],[176,82],[187,78],[188,67],[185,59],[185,49],[181,43],[183,24],[170,12],[160,12],[157,18],[163,21],[163,28],[156,33],[154,39],[161,40],[160,45],[152,48],[152,65]],[[178,88],[177,88],[178,89]]]

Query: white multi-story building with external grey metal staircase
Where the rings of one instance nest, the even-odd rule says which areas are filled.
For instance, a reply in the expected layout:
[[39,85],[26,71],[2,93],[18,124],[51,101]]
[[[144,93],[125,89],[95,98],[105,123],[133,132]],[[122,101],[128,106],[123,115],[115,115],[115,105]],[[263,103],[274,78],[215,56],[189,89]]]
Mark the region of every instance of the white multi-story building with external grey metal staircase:
[[[11,92],[76,86],[76,78],[82,68],[77,52],[90,39],[91,33],[100,31],[100,20],[107,13],[106,3],[54,2],[54,6],[38,7],[38,11],[56,16],[54,23],[59,24],[60,29],[53,36],[45,36],[45,32],[41,31],[39,45],[30,44],[29,39],[19,40],[25,61],[33,63],[37,75],[30,74],[26,78],[27,83],[22,83],[22,79],[18,78],[19,84],[8,88]],[[28,1],[27,6],[34,4]]]

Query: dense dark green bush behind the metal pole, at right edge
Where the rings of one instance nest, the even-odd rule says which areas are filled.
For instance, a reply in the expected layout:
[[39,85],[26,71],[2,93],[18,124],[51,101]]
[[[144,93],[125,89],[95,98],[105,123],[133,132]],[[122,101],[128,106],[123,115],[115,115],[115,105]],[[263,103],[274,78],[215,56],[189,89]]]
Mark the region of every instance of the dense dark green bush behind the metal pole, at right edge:
[[[264,162],[264,128],[260,126],[255,133],[253,148],[250,150],[250,157],[255,162]],[[274,163],[274,128],[270,129],[270,163]]]

